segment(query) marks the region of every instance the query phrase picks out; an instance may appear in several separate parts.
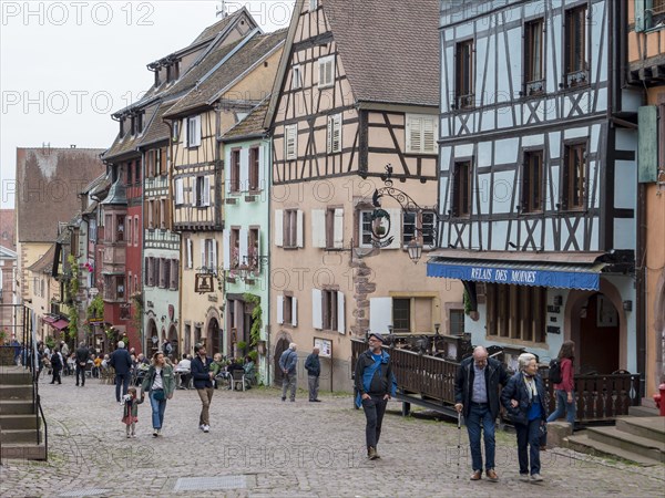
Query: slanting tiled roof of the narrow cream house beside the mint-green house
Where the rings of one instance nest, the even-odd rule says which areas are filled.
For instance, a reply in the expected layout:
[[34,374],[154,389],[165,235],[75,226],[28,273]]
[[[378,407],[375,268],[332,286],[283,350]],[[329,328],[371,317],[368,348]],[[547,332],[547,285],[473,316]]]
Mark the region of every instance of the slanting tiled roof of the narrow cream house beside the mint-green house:
[[[214,52],[211,54],[211,64],[208,64],[211,68],[208,71],[214,69],[215,64],[221,62],[226,55],[231,54],[231,51],[237,48],[237,51],[231,54],[228,60],[217,68],[214,73],[209,74],[203,82],[195,85],[190,93],[183,96],[177,104],[168,110],[166,115],[175,116],[187,110],[194,110],[209,104],[212,100],[224,91],[224,89],[252,65],[260,61],[266,54],[282,44],[285,39],[286,30],[278,30],[268,34],[255,34],[248,41],[239,41],[236,44]],[[241,43],[244,44],[239,46]],[[215,60],[214,63],[212,63],[213,59]],[[201,74],[200,77],[205,76],[208,71]]]

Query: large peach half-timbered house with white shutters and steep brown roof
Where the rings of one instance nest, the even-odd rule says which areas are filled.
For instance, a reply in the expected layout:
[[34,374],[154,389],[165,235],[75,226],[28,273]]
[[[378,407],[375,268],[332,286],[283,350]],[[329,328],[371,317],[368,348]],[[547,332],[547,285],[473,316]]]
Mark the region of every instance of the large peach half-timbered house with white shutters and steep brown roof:
[[[273,129],[270,354],[289,342],[326,357],[349,390],[350,338],[462,330],[461,286],[424,278],[406,246],[437,200],[438,2],[297,1],[266,124]],[[390,240],[372,245],[372,194],[392,166],[418,199],[385,197]],[[428,231],[431,234],[431,231]],[[432,240],[426,241],[433,245]]]

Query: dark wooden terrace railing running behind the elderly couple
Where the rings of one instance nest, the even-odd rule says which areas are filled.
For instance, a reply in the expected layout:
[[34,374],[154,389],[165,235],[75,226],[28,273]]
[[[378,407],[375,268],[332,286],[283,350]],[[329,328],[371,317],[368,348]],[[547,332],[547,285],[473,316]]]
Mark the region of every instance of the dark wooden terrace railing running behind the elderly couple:
[[[352,363],[367,350],[367,343],[351,341]],[[458,363],[434,356],[387,349],[397,377],[398,392],[412,403],[427,401],[428,405],[454,404],[454,375]],[[550,393],[550,411],[554,409],[553,388],[543,372],[545,387]],[[579,422],[613,421],[627,415],[630,406],[640,404],[640,374],[575,375],[575,395]]]

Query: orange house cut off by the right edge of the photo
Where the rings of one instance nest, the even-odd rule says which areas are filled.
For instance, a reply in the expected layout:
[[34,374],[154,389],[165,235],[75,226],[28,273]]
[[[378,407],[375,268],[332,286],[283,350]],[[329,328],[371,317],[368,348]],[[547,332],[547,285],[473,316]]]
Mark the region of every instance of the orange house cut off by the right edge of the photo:
[[637,362],[643,362],[645,398],[665,378],[665,1],[625,2],[628,83],[645,93],[638,111],[640,147],[637,266],[635,284]]

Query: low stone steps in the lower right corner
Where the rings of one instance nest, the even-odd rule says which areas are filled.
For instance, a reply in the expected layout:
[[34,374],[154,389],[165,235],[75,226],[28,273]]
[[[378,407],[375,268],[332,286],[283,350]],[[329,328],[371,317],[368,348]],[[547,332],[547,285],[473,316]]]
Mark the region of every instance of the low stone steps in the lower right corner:
[[590,427],[565,438],[565,446],[587,454],[601,454],[643,466],[665,463],[665,417],[622,416],[615,426]]

